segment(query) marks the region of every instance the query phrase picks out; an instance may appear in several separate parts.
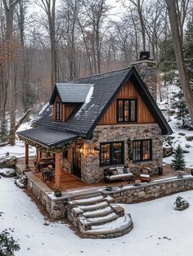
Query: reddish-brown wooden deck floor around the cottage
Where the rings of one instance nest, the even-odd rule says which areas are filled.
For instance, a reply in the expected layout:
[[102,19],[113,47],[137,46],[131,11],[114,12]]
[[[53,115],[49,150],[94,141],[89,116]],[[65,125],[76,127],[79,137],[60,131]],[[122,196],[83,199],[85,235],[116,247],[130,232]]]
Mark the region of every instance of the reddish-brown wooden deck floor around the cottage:
[[[36,177],[38,177],[43,183],[45,183],[48,187],[50,187],[53,191],[56,189],[55,185],[55,178],[52,179],[52,181],[45,181],[43,179],[41,172],[36,172],[34,170],[34,161],[36,158],[30,157],[29,158],[29,170],[34,173]],[[18,165],[25,167],[25,159],[18,159],[17,162]],[[171,170],[171,168],[168,168],[167,166],[164,167],[164,174],[162,176],[154,175],[151,177],[151,181],[162,179],[166,177],[173,177],[176,176],[176,172]],[[61,190],[62,191],[77,191],[77,190],[88,190],[88,189],[96,189],[99,187],[105,187],[107,185],[111,186],[119,186],[123,184],[124,186],[128,184],[128,182],[112,182],[112,183],[92,183],[92,184],[86,184],[82,182],[78,177],[75,177],[74,175],[65,172],[64,170],[61,171]]]

